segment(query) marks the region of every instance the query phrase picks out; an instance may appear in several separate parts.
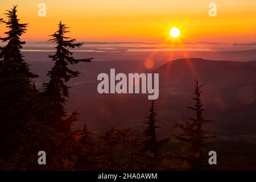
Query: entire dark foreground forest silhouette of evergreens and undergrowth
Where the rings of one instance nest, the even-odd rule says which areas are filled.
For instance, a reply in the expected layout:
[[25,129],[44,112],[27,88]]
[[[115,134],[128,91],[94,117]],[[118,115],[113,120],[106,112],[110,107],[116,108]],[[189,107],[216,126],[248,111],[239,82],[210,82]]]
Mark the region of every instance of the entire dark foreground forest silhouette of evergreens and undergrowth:
[[[50,41],[56,44],[55,55],[50,55],[54,65],[40,92],[32,79],[38,77],[30,72],[20,50],[25,42],[20,40],[27,24],[20,23],[17,6],[6,11],[7,20],[1,19],[9,31],[0,38],[6,46],[0,52],[0,169],[2,170],[162,170],[206,169],[207,141],[212,136],[203,130],[209,120],[203,118],[201,87],[196,78],[196,104],[189,107],[196,118],[186,118],[175,127],[181,133],[180,151],[166,151],[164,144],[170,139],[159,140],[155,102],[152,101],[146,117],[144,132],[135,129],[109,129],[94,137],[86,125],[72,130],[79,121],[76,110],[68,115],[64,109],[69,97],[71,78],[78,71],[68,66],[88,63],[90,59],[75,59],[69,49],[79,48],[81,43],[65,36],[68,27],[59,22]],[[0,25],[2,26],[2,24]],[[88,103],[89,104],[89,103]],[[147,108],[146,108],[147,109]],[[145,109],[145,110],[146,110]],[[47,154],[47,165],[38,165],[38,151]],[[177,166],[174,168],[173,163]]]

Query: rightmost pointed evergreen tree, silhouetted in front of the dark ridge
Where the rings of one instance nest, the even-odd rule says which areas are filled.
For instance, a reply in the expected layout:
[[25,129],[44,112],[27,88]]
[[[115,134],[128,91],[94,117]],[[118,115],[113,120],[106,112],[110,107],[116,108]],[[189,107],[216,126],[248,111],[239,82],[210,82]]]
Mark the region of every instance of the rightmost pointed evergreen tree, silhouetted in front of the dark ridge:
[[181,143],[181,150],[176,152],[177,158],[184,160],[191,170],[205,169],[205,164],[208,160],[207,156],[207,141],[213,138],[207,131],[204,131],[203,126],[205,123],[212,122],[211,120],[204,119],[203,105],[201,104],[201,88],[204,84],[199,84],[196,77],[195,80],[195,101],[194,106],[189,106],[195,112],[195,118],[184,118],[182,123],[177,123],[175,127],[179,128],[181,134],[175,135],[176,139]]

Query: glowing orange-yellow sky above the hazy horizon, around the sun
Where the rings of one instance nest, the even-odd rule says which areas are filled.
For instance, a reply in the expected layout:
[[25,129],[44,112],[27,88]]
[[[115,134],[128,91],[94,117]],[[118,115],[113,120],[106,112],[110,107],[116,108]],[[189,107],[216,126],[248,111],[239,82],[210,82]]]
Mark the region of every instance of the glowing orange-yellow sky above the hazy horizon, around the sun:
[[[38,16],[40,2],[46,17]],[[217,17],[208,16],[210,2],[217,4]],[[63,20],[80,41],[162,43],[176,26],[181,42],[256,42],[255,0],[9,0],[0,2],[0,17],[17,4],[21,22],[29,23],[27,41],[47,40]]]

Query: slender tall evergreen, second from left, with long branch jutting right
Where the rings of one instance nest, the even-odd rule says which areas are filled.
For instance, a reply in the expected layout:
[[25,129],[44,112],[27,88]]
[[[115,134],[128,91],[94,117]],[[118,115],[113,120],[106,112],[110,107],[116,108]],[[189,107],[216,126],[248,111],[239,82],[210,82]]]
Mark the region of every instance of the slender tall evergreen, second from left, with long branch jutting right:
[[[81,47],[81,43],[75,43],[76,39],[71,39],[65,36],[69,31],[68,27],[65,24],[59,22],[58,30],[52,34],[52,39],[49,41],[55,42],[57,44],[55,55],[50,55],[49,58],[54,61],[54,66],[48,72],[49,82],[44,83],[44,93],[43,96],[47,99],[46,104],[46,118],[47,122],[56,133],[59,133],[59,142],[56,141],[57,145],[51,147],[49,151],[52,154],[52,158],[56,160],[65,159],[65,163],[72,163],[70,157],[72,156],[72,151],[76,148],[78,141],[69,143],[70,140],[79,138],[82,134],[82,131],[73,131],[72,125],[78,120],[79,113],[73,111],[71,115],[67,114],[67,111],[64,109],[66,98],[69,96],[69,86],[67,82],[71,78],[79,76],[78,71],[72,71],[68,68],[68,65],[77,64],[80,62],[91,62],[90,59],[75,59],[72,57],[72,52],[68,48]],[[53,139],[54,140],[54,139]],[[69,143],[69,144],[68,144]],[[60,163],[61,161],[56,161]],[[69,168],[69,167],[65,167]],[[64,169],[65,169],[64,168]]]

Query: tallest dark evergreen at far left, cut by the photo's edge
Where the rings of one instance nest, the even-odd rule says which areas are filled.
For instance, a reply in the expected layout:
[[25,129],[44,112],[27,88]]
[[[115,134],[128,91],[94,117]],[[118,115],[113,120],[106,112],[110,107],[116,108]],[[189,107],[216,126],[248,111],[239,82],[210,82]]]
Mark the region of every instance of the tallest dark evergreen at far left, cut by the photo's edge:
[[2,22],[9,30],[5,38],[0,38],[7,42],[0,52],[0,156],[5,169],[23,165],[21,158],[29,143],[26,133],[31,133],[34,123],[32,107],[37,93],[32,78],[38,76],[30,72],[20,53],[25,44],[20,36],[26,32],[27,24],[19,23],[16,7],[5,13],[7,20]]

